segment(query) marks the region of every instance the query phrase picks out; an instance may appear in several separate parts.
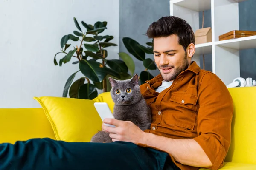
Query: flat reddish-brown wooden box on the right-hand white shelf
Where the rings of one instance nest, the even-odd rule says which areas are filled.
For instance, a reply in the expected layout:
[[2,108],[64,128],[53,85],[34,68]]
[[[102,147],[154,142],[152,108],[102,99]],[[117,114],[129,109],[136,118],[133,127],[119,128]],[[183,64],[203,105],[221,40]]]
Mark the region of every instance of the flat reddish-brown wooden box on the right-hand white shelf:
[[256,31],[233,30],[219,36],[219,41],[256,35]]

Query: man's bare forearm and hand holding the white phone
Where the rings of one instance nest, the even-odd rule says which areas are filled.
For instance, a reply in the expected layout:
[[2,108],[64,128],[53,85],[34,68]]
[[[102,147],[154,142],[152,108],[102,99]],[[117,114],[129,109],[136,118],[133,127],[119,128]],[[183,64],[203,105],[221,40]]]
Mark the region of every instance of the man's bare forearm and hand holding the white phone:
[[102,130],[111,133],[110,137],[113,142],[125,141],[138,145],[147,145],[147,147],[163,150],[172,155],[176,161],[190,166],[212,166],[204,150],[194,139],[170,139],[152,133],[145,133],[130,121],[105,119],[104,123],[116,126],[108,127],[102,124]]

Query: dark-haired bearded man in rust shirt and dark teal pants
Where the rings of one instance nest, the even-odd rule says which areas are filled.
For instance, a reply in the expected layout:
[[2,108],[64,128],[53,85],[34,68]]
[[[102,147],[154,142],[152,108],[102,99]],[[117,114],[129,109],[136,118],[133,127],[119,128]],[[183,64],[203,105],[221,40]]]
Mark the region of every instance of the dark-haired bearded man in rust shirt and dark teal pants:
[[152,112],[150,130],[105,119],[116,126],[102,124],[112,143],[31,139],[0,144],[0,170],[220,168],[230,146],[233,103],[229,91],[215,74],[191,61],[195,37],[186,21],[162,17],[149,26],[147,35],[154,39],[154,59],[160,70],[140,86]]

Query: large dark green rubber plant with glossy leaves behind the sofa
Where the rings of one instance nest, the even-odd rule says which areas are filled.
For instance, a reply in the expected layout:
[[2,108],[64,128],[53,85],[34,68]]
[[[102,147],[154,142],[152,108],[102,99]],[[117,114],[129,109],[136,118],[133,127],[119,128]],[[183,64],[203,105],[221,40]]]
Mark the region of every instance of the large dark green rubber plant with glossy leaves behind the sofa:
[[[106,21],[97,21],[93,25],[81,21],[85,31],[82,31],[75,17],[74,23],[77,30],[73,31],[73,34],[67,34],[61,38],[61,50],[54,56],[55,65],[62,66],[70,62],[72,57],[77,59],[72,64],[79,65],[78,71],[71,74],[67,79],[62,97],[67,97],[67,94],[69,94],[71,98],[93,99],[98,96],[97,89],[103,90],[103,92],[110,91],[111,85],[108,82],[108,77],[123,80],[134,75],[135,64],[128,54],[120,52],[119,57],[121,59],[107,58],[108,47],[116,46],[116,44],[110,42],[114,38],[113,36],[101,35],[107,29]],[[69,40],[80,41],[80,45],[71,48],[71,43],[68,43]],[[148,70],[156,69],[156,65],[150,58],[145,58],[145,53],[153,54],[152,42],[147,42],[148,47],[145,47],[129,37],[122,40],[128,52],[136,59],[143,61],[145,70],[140,73],[140,82],[144,83],[146,80],[153,78]],[[63,54],[59,62],[56,59],[58,54]],[[84,77],[73,82],[76,73],[79,71]],[[86,83],[84,83],[85,80],[87,80]]]

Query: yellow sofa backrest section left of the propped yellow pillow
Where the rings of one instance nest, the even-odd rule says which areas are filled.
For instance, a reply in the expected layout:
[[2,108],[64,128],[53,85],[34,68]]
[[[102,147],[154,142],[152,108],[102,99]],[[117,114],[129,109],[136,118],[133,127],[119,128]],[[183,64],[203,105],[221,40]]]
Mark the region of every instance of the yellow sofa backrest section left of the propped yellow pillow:
[[0,108],[0,143],[56,139],[42,108]]

